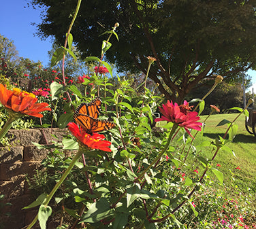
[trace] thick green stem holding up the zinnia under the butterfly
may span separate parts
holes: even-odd
[[[61,186],[61,184],[65,181],[65,179],[67,178],[67,175],[69,175],[71,169],[73,169],[74,165],[76,164],[76,161],[78,160],[78,158],[80,158],[80,156],[82,155],[82,150],[78,150],[78,153],[76,154],[76,156],[74,156],[74,158],[71,160],[67,170],[65,171],[65,173],[63,173],[61,179],[58,181],[58,183],[54,186],[54,188],[52,189],[52,191],[50,192],[50,194],[48,194],[46,200],[44,200],[43,205],[47,206],[48,203],[50,202],[50,200],[52,199],[52,196],[54,195],[54,193],[58,190],[59,186]],[[37,222],[38,219],[38,214],[35,216],[35,218],[33,219],[33,222],[31,222],[31,224],[29,224],[29,226],[27,227],[27,229],[32,228],[32,226]]]

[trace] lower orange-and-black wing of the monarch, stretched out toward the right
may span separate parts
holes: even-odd
[[[89,133],[90,135],[92,133],[97,133],[103,130],[109,130],[116,126],[114,122],[109,122],[107,120],[97,120],[91,116],[83,114],[75,114],[74,120],[86,131],[86,133]]]

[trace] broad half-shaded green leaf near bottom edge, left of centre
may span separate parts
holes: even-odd
[[[106,198],[100,198],[97,202],[94,202],[89,210],[82,217],[82,222],[96,223],[107,216],[113,215],[113,211],[110,208],[110,204]]]

